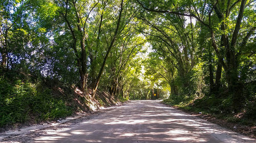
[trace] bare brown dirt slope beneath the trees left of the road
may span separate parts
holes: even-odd
[[[23,123],[12,123],[5,125],[0,128],[0,133],[8,130],[20,131],[21,128],[28,128],[35,125],[55,125],[55,123],[60,123],[66,118],[73,119],[74,117],[80,117],[83,115],[88,115],[105,107],[119,104],[120,101],[111,96],[108,92],[97,92],[96,98],[91,98],[92,91],[88,89],[87,93],[82,92],[75,86],[60,83],[59,81],[44,81],[41,83],[42,89],[50,89],[51,96],[54,99],[61,100],[65,102],[65,105],[70,108],[71,115],[69,117],[58,117],[55,119],[40,119],[37,113],[28,113],[27,121]],[[73,118],[72,118],[73,117]]]

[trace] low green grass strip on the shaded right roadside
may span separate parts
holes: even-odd
[[[244,106],[240,111],[234,112],[227,99],[217,99],[214,97],[203,97],[201,99],[183,100],[179,102],[173,99],[164,99],[163,103],[174,106],[177,109],[188,111],[202,116],[211,116],[229,123],[245,126],[256,126],[255,110],[251,111],[251,106]]]

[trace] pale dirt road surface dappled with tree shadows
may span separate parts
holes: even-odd
[[[157,101],[131,101],[34,142],[237,142],[214,126]]]

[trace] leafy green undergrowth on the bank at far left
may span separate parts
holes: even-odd
[[[0,127],[25,123],[29,120],[40,122],[67,117],[73,109],[66,106],[65,98],[52,95],[52,90],[40,88],[40,83],[0,78]]]

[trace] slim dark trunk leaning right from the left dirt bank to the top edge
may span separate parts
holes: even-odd
[[[103,73],[103,69],[105,67],[105,64],[106,64],[106,59],[108,59],[109,53],[110,53],[110,51],[111,51],[111,49],[113,47],[113,44],[114,44],[114,42],[116,40],[116,37],[117,37],[117,34],[118,34],[118,30],[119,30],[119,26],[120,26],[120,21],[121,21],[121,17],[122,17],[122,11],[123,11],[123,0],[121,1],[120,12],[119,12],[119,17],[118,17],[118,21],[117,21],[117,26],[116,26],[116,31],[115,31],[114,37],[113,37],[113,39],[112,39],[112,41],[110,43],[108,51],[106,51],[105,58],[103,60],[103,63],[101,65],[101,68],[100,68],[100,71],[99,71],[99,74],[98,74],[97,79],[96,79],[96,83],[94,85],[93,95],[92,95],[93,99],[95,98],[95,94],[96,94],[96,91],[98,89],[99,81],[100,81],[101,75]]]

